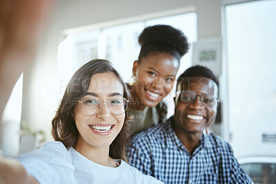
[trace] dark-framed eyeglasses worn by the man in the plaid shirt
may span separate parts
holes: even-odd
[[[180,94],[180,100],[183,103],[193,103],[195,99],[197,99],[197,96],[199,96],[201,103],[203,103],[206,106],[214,106],[217,102],[219,102],[219,99],[217,99],[212,94],[196,94],[192,91],[179,91],[176,92],[176,94]]]

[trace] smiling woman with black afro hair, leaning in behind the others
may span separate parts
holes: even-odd
[[[141,50],[133,63],[134,81],[128,84],[132,135],[166,120],[168,108],[163,99],[172,90],[181,57],[188,52],[186,36],[170,25],[149,26],[138,41]]]

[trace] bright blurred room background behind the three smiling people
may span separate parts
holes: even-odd
[[[57,1],[41,32],[36,61],[21,75],[6,105],[0,133],[3,156],[52,141],[51,120],[70,77],[81,65],[108,59],[128,82],[141,31],[148,25],[168,24],[181,29],[190,43],[177,76],[199,63],[219,77],[221,105],[211,131],[230,143],[238,159],[254,156],[262,158],[257,163],[272,163],[275,10],[276,1],[271,0]],[[166,98],[168,116],[174,113],[174,90]],[[275,164],[270,168],[276,175]]]

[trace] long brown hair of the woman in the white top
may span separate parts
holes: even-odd
[[[52,119],[53,138],[55,141],[61,141],[67,148],[74,147],[79,136],[79,131],[72,116],[74,106],[88,92],[92,76],[103,72],[115,74],[124,87],[124,97],[128,100],[130,99],[126,84],[110,61],[93,59],[79,68],[70,79],[55,118]],[[126,112],[126,114],[128,113]],[[121,131],[110,145],[109,155],[113,159],[126,161],[125,146],[128,141],[128,120],[130,120],[130,117],[126,116]]]

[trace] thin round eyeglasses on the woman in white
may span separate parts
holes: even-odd
[[[87,97],[79,101],[79,103],[81,103],[81,111],[87,116],[97,114],[97,112],[101,110],[102,106],[102,102],[93,97]],[[108,108],[112,114],[120,115],[126,112],[126,109],[128,108],[128,100],[123,97],[116,97],[107,101],[106,105],[108,105]]]

